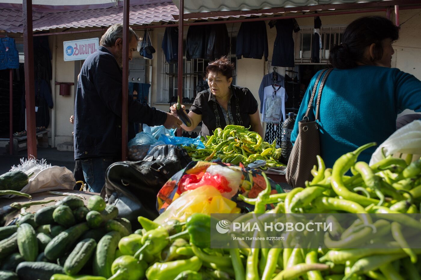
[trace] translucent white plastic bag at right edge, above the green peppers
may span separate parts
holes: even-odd
[[[413,121],[390,135],[373,153],[370,159],[370,165],[383,159],[381,154],[382,148],[385,156],[393,155],[394,157],[399,157],[402,153],[402,158],[405,158],[407,154],[414,155],[412,158],[413,161],[420,158],[421,120]]]

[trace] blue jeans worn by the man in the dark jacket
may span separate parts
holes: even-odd
[[[83,177],[85,177],[89,191],[101,193],[105,184],[105,172],[115,160],[110,157],[98,157],[81,159],[80,162],[82,163]]]

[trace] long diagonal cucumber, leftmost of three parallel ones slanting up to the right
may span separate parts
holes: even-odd
[[[44,253],[47,259],[51,261],[56,260],[59,256],[69,251],[76,240],[88,229],[89,227],[86,223],[81,223],[60,232],[45,247]]]

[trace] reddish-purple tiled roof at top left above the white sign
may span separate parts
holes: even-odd
[[[152,22],[176,21],[173,14],[179,9],[172,2],[134,5],[130,7],[130,25],[150,24]],[[102,27],[123,22],[121,7],[100,8],[61,13],[32,12],[33,30],[42,31],[56,28]],[[0,9],[0,30],[23,32],[21,10]]]

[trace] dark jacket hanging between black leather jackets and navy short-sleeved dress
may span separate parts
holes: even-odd
[[[237,59],[256,58],[267,61],[268,46],[266,24],[264,21],[243,22],[237,34],[237,46],[235,55]]]

